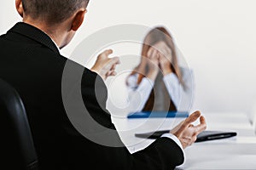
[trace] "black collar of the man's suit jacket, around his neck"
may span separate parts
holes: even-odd
[[[18,22],[9,31],[21,34],[25,37],[29,37],[36,42],[44,44],[44,46],[50,48],[55,53],[60,54],[58,47],[55,45],[55,42],[53,42],[52,39],[46,33],[44,33],[44,31],[41,31],[34,26],[28,25],[24,22]]]

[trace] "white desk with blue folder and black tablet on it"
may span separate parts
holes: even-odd
[[[185,162],[177,169],[256,169],[256,137],[253,126],[243,113],[204,113],[207,130],[236,131],[230,139],[195,143],[186,148]],[[131,153],[142,150],[153,139],[139,139],[134,133],[171,129],[183,118],[113,118],[121,139]],[[195,122],[196,124],[197,122]]]

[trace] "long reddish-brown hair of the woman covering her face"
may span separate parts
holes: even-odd
[[[141,62],[131,72],[131,75],[134,75],[137,73],[138,74],[137,84],[142,82],[143,77],[145,77],[145,75],[148,72],[147,62],[143,62],[143,61],[145,61],[145,59],[143,59],[143,57],[147,58],[148,49],[151,48],[152,46],[154,46],[154,44],[157,42],[166,42],[166,45],[169,48],[171,48],[172,61],[170,62],[170,67],[171,67],[173,73],[176,74],[179,82],[184,86],[182,74],[181,74],[181,71],[177,64],[177,53],[176,53],[175,44],[173,42],[173,38],[172,38],[171,34],[166,30],[166,28],[162,27],[162,26],[155,27],[154,29],[149,31],[148,34],[146,35],[146,37],[144,38],[143,49],[142,49],[142,54],[141,54],[141,56],[142,56]]]

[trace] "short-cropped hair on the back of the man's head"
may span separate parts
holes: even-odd
[[[89,0],[22,0],[25,14],[43,19],[49,24],[67,20],[79,8],[86,8]]]

